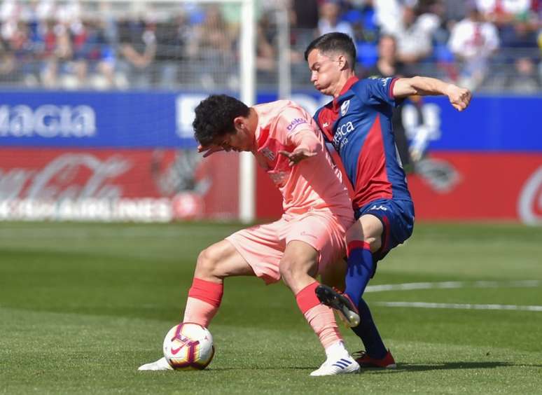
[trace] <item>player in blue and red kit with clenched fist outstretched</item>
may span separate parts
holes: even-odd
[[[412,235],[414,205],[396,149],[391,115],[410,95],[446,95],[463,111],[471,92],[436,78],[356,77],[356,48],[347,34],[328,33],[305,51],[311,82],[333,100],[314,114],[324,136],[340,155],[354,189],[356,223],[347,233],[345,292],[320,285],[321,303],[337,310],[361,338],[361,367],[395,368],[384,346],[363,291],[375,275],[377,262]]]

